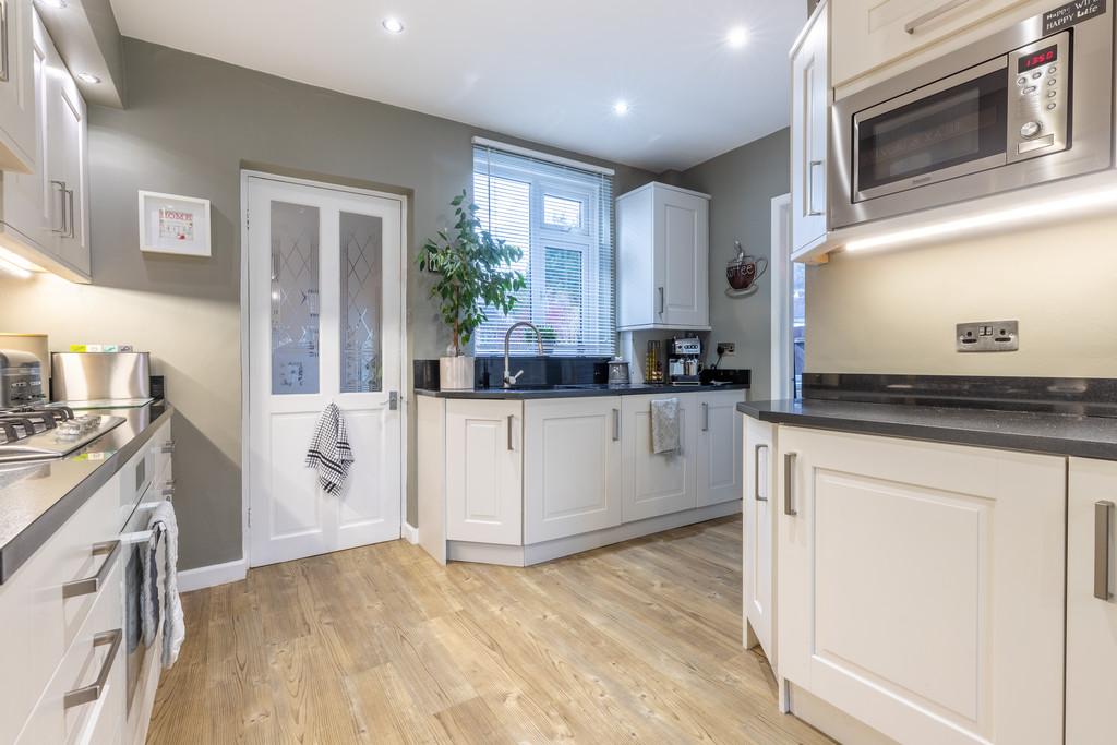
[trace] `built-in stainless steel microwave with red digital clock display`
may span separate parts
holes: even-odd
[[[1114,165],[1114,12],[1052,7],[834,102],[830,228]]]

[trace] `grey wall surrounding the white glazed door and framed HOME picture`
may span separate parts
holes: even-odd
[[[517,141],[134,39],[125,40],[124,58],[128,108],[89,109],[94,286],[2,280],[0,328],[48,333],[54,348],[132,341],[153,353],[180,409],[176,506],[181,565],[191,569],[241,554],[241,164],[408,193],[413,256],[448,222],[449,200],[470,184],[470,137]],[[617,169],[617,193],[652,179],[605,165]],[[210,199],[212,258],[141,255],[139,189]],[[424,281],[410,273],[409,357],[438,356],[448,342]],[[414,507],[412,494],[412,520]]]

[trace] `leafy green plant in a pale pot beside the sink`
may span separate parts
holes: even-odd
[[[486,308],[507,314],[527,281],[512,268],[524,251],[481,230],[477,206],[466,204],[465,191],[450,206],[454,228],[439,230],[437,238],[428,240],[418,264],[438,275],[430,296],[438,298],[439,314],[452,340],[447,356],[439,360],[440,386],[459,391],[474,388],[474,359],[466,354],[466,346],[477,327],[488,321]]]

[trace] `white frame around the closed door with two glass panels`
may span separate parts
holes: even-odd
[[[245,570],[251,566],[248,526],[249,485],[251,478],[250,426],[251,397],[248,394],[251,375],[251,343],[249,337],[249,303],[248,303],[248,180],[261,179],[286,184],[313,187],[361,197],[388,199],[400,204],[400,531],[408,524],[408,420],[410,418],[411,397],[408,394],[411,380],[408,365],[408,198],[371,189],[345,187],[324,181],[297,179],[278,175],[265,171],[240,171],[240,551]]]

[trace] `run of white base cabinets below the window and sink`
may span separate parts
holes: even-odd
[[[651,452],[678,398],[682,448]],[[527,565],[739,510],[743,391],[419,397],[420,541],[436,558]]]

